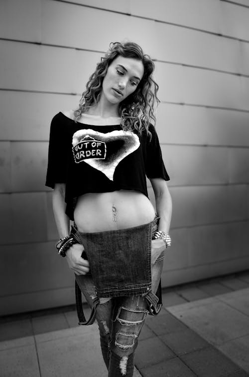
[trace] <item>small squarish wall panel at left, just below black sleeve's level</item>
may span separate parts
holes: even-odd
[[[47,170],[48,142],[11,143],[12,191],[43,191]]]

